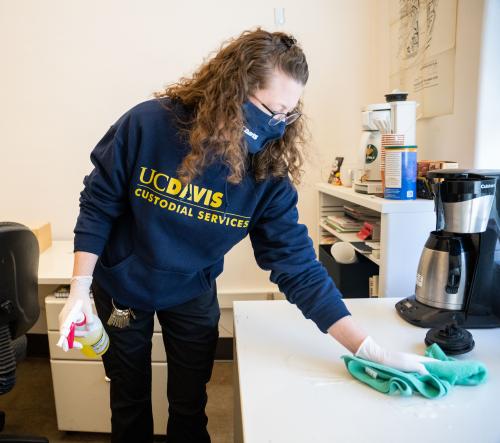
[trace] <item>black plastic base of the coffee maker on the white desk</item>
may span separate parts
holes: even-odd
[[[412,325],[421,328],[442,328],[456,321],[458,326],[468,329],[500,328],[500,318],[494,315],[467,315],[464,311],[450,311],[424,305],[415,296],[396,303],[397,313]]]

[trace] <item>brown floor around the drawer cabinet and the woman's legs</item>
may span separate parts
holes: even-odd
[[[43,435],[50,443],[109,442],[108,434],[61,432],[57,429],[48,358],[23,360],[18,364],[16,375],[14,389],[0,397],[0,410],[6,413],[5,433]],[[208,428],[213,443],[233,441],[232,378],[232,362],[215,363],[208,386],[207,406]]]

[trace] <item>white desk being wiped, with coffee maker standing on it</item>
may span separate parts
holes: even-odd
[[[394,350],[423,353],[425,329],[400,319],[396,299],[350,299],[357,322]],[[500,442],[500,329],[472,330],[489,380],[448,396],[390,397],[356,381],[330,336],[285,301],[236,302],[235,442]]]

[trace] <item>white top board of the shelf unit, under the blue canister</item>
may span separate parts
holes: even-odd
[[[389,200],[375,195],[360,194],[353,188],[334,186],[329,183],[316,183],[316,188],[328,195],[355,203],[381,213],[393,212],[434,212],[434,201],[417,198],[416,200]]]

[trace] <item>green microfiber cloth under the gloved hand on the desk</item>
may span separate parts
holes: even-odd
[[[438,360],[424,362],[429,371],[426,375],[402,372],[352,355],[342,358],[354,378],[389,395],[410,396],[416,392],[426,398],[440,398],[453,385],[474,386],[486,380],[488,372],[482,363],[448,357],[435,343],[426,349],[425,355]]]

